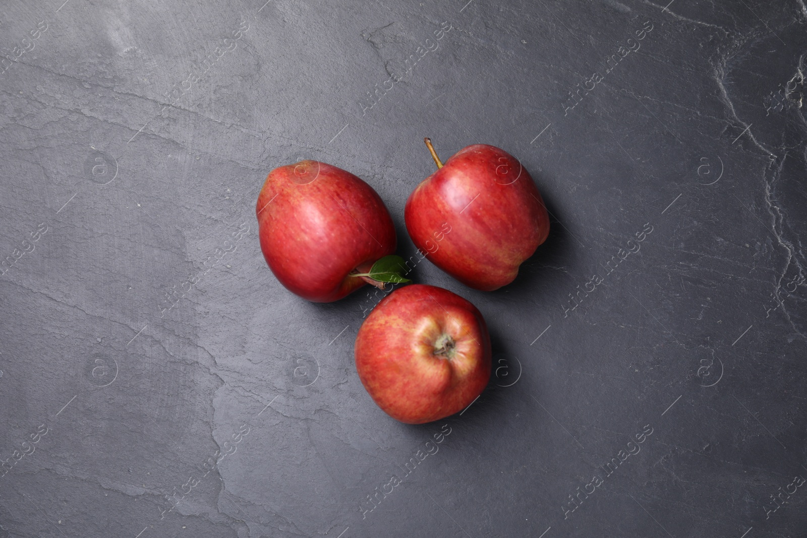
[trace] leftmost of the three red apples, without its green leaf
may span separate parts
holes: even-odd
[[[378,194],[352,173],[317,161],[281,166],[255,206],[261,250],[286,289],[314,302],[345,297],[354,276],[395,252],[395,227]]]

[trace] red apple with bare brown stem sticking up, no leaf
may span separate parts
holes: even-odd
[[[425,140],[437,172],[409,195],[403,214],[409,236],[466,286],[492,291],[509,284],[550,232],[533,178],[516,157],[487,144],[462,148],[443,165]],[[444,223],[451,232],[436,244]]]

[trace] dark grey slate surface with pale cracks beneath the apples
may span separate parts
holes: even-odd
[[[807,536],[805,3],[466,1],[3,2],[0,536]],[[424,136],[553,228],[493,293],[416,267],[495,375],[413,427],[254,203],[327,161],[409,256]]]

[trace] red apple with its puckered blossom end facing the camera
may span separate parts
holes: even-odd
[[[414,284],[378,302],[356,337],[356,370],[378,407],[410,424],[462,411],[491,377],[491,339],[474,305]]]

